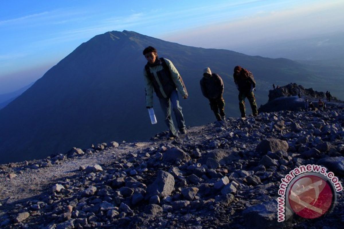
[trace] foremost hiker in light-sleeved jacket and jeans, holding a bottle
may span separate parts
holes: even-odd
[[[153,90],[157,94],[161,109],[165,115],[165,123],[169,127],[169,139],[178,137],[171,117],[173,109],[177,125],[181,134],[186,133],[182,107],[179,105],[178,92],[183,99],[187,99],[187,91],[178,70],[173,63],[165,58],[158,58],[157,49],[148,46],[143,50],[147,60],[144,66],[144,80],[146,81],[146,108],[153,107]]]

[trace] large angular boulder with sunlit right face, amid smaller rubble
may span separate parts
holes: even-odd
[[[171,195],[174,190],[174,177],[165,171],[158,172],[157,179],[147,188],[147,195],[145,199],[149,199],[154,195],[159,197],[166,197]]]

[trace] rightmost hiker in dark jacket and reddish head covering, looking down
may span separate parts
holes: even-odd
[[[240,66],[234,68],[233,78],[235,85],[239,91],[239,109],[241,117],[246,117],[245,113],[245,99],[247,98],[250,102],[252,114],[258,115],[256,98],[253,91],[256,88],[256,81],[250,71],[247,71]]]

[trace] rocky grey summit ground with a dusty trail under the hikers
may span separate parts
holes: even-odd
[[[343,137],[344,111],[333,106],[0,165],[0,227],[342,228],[343,191],[318,219],[277,222],[276,199],[301,165],[323,165],[343,184]]]

